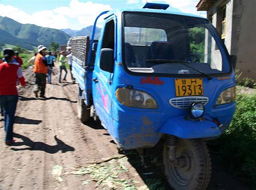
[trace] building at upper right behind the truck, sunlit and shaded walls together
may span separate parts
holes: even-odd
[[[221,10],[226,4],[225,46],[237,56],[242,78],[256,80],[256,0],[218,0],[207,11],[212,25],[221,33]],[[215,46],[212,43],[212,49]],[[214,52],[213,52],[214,56]]]

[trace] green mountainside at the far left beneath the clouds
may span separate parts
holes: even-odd
[[[38,45],[49,46],[51,41],[60,45],[67,44],[70,38],[65,32],[44,28],[34,24],[21,24],[8,17],[0,17],[0,46],[4,44],[20,45],[33,50]]]

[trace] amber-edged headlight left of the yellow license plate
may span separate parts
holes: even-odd
[[[146,92],[119,88],[116,89],[117,100],[128,107],[146,108],[146,109],[157,109],[158,105],[154,98]]]

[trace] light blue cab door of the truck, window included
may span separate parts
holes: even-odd
[[[99,116],[100,121],[102,122],[103,127],[106,129],[112,126],[112,86],[111,79],[113,73],[104,71],[100,69],[100,52],[103,48],[109,48],[115,51],[115,31],[116,31],[116,19],[114,16],[108,18],[105,21],[105,26],[103,28],[101,37],[99,39],[98,48],[96,52],[95,66],[93,70],[93,104],[96,109],[96,113]],[[116,56],[115,58],[116,59]],[[114,60],[115,62],[116,60]]]

